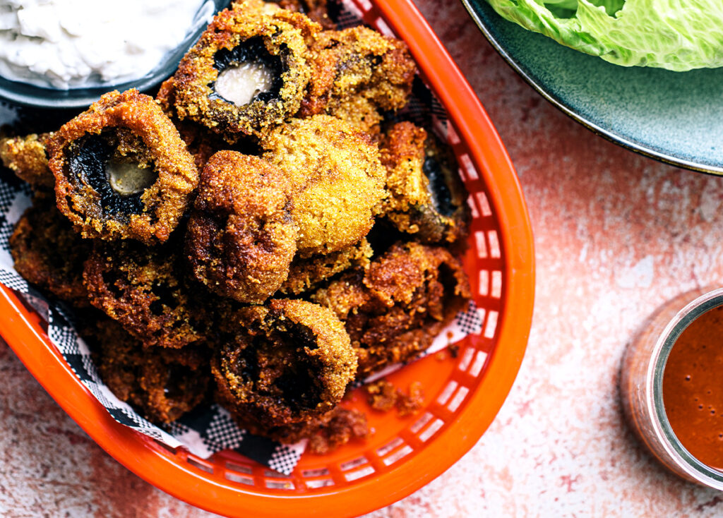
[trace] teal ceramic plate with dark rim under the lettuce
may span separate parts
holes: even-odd
[[[462,0],[502,57],[547,100],[617,144],[683,168],[723,175],[723,69],[626,68]]]

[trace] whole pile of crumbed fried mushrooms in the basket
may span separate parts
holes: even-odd
[[[215,400],[325,452],[367,433],[350,384],[466,308],[469,214],[448,147],[398,120],[405,44],[303,5],[232,4],[155,98],[109,92],[0,157],[34,193],[17,272],[77,311],[121,400],[155,423]]]

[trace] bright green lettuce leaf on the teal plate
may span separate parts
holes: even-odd
[[[723,66],[723,0],[487,0],[507,20],[605,61]]]

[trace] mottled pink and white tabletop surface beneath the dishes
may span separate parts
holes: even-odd
[[[458,0],[416,0],[518,170],[536,247],[520,374],[479,443],[369,517],[723,514],[723,495],[664,472],[620,413],[625,344],[656,306],[723,280],[723,178],[596,137],[520,79]],[[108,457],[0,342],[0,516],[210,517]]]

